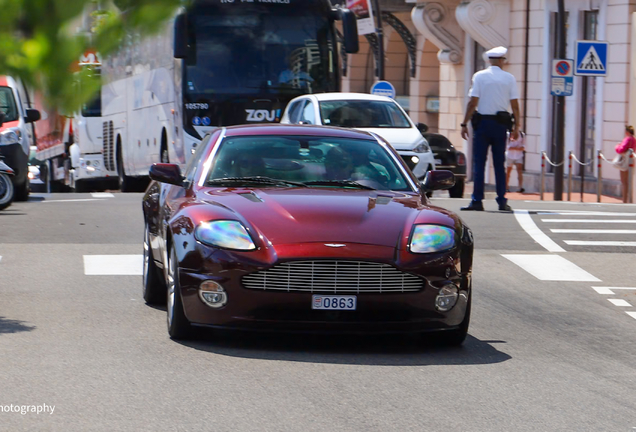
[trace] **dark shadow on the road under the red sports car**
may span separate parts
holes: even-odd
[[[461,347],[440,347],[416,336],[323,336],[202,331],[181,342],[209,353],[261,360],[375,366],[493,364],[511,357],[491,343],[468,336]]]

